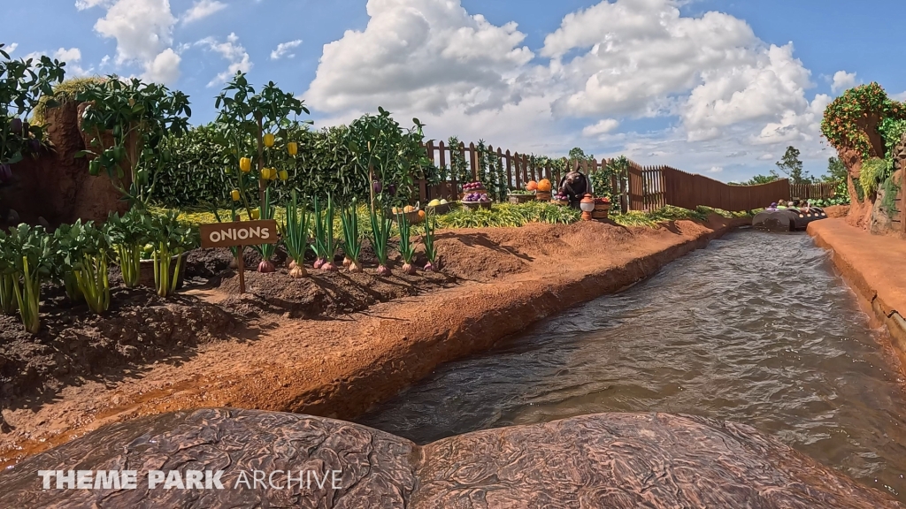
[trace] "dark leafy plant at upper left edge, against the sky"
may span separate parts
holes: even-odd
[[[53,95],[53,84],[63,82],[65,62],[42,56],[13,60],[0,43],[0,183],[12,177],[10,165],[41,147],[44,131],[24,119],[42,95]],[[53,101],[48,101],[53,106]]]

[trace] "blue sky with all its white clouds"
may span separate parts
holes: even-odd
[[[16,22],[0,42],[15,57],[166,82],[190,95],[196,123],[242,69],[303,96],[320,126],[382,105],[432,138],[548,155],[581,146],[722,180],[766,173],[790,144],[820,175],[834,155],[817,130],[828,101],[861,82],[906,92],[897,30],[878,25],[906,19],[906,2],[6,4]]]

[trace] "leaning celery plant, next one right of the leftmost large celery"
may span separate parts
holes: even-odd
[[[92,312],[101,314],[111,305],[111,285],[107,273],[110,239],[91,221],[74,232],[80,256],[72,265],[79,291]]]

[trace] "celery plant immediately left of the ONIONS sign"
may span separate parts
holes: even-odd
[[[185,257],[183,254],[198,246],[198,232],[181,224],[179,214],[175,211],[149,216],[145,221],[150,244],[153,245],[151,259],[154,261],[154,285],[159,296],[167,297],[176,292],[178,275]]]

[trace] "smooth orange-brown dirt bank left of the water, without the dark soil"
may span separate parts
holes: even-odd
[[[443,232],[460,280],[337,320],[268,318],[254,339],[202,346],[135,378],[89,381],[51,403],[5,411],[0,462],[143,415],[236,407],[354,418],[440,363],[486,350],[556,312],[613,293],[745,220],[712,217],[658,229],[600,223]],[[210,299],[216,301],[217,295]]]

